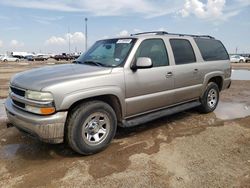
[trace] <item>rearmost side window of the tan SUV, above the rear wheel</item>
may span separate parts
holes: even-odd
[[[219,40],[195,38],[194,39],[205,61],[228,60],[228,53]]]

